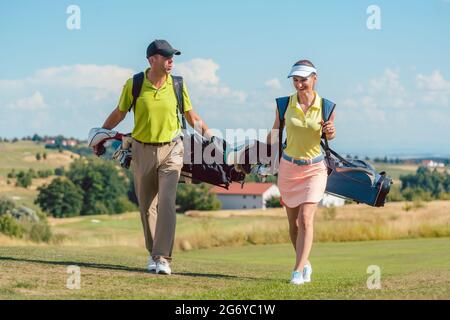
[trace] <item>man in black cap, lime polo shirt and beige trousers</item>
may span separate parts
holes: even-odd
[[[145,71],[139,98],[134,106],[132,159],[134,186],[139,202],[145,245],[150,253],[147,269],[171,274],[170,262],[175,238],[175,200],[183,167],[184,147],[178,118],[177,99],[170,72],[173,56],[180,51],[165,40],[155,40],[147,48],[150,68]],[[122,91],[119,106],[103,124],[113,129],[126,116],[133,102],[133,78]],[[211,138],[208,126],[192,109],[183,86],[184,116],[205,138]],[[94,148],[97,152],[97,148]]]

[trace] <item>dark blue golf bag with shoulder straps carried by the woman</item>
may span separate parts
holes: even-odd
[[[288,105],[289,97],[277,99],[277,108],[280,115],[280,157],[283,146],[286,145],[282,143],[282,132],[284,115]],[[323,121],[326,122],[330,119],[335,106],[333,102],[322,99]],[[373,207],[384,206],[392,179],[385,172],[378,173],[372,165],[365,161],[341,157],[329,147],[325,134],[322,134],[322,140],[321,146],[325,152],[325,162],[328,167],[328,180],[325,192]]]

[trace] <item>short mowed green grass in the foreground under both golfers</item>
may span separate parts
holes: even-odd
[[[174,274],[145,272],[138,247],[0,247],[0,299],[449,299],[450,239],[317,243],[313,282],[288,283],[289,244],[178,252]],[[67,266],[81,289],[66,288]],[[381,269],[380,290],[367,268]]]

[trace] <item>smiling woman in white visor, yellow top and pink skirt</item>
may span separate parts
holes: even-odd
[[[296,251],[291,283],[311,281],[309,262],[313,242],[313,221],[327,184],[327,168],[320,149],[322,132],[334,139],[334,111],[330,120],[322,120],[322,99],[314,90],[317,70],[309,60],[300,60],[289,73],[296,93],[289,97],[285,113],[287,145],[278,171],[278,187],[289,220],[289,235]],[[277,110],[267,143],[278,139],[280,116]],[[277,140],[275,140],[277,141]]]

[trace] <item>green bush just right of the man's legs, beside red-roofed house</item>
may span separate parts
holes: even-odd
[[[180,184],[177,189],[176,203],[179,211],[219,210],[221,203],[206,184]]]

